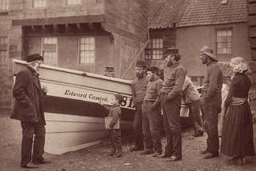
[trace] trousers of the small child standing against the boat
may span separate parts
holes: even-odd
[[[114,151],[122,151],[122,142],[121,142],[121,129],[110,129],[110,141]]]

